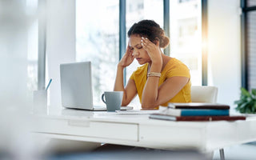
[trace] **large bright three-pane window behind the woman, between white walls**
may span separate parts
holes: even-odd
[[[76,60],[92,62],[96,104],[102,103],[102,92],[114,86],[119,61],[119,5],[119,0],[76,1]],[[202,85],[201,1],[171,0],[169,7],[170,56],[190,68],[193,85]],[[163,28],[163,0],[126,0],[126,35],[130,26],[142,19],[152,19]],[[138,66],[134,60],[126,68],[126,82]],[[131,105],[140,107],[138,97]]]

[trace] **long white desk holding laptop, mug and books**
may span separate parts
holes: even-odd
[[[38,122],[33,131],[50,138],[200,152],[256,140],[256,117],[235,122],[170,122],[148,116],[63,109],[34,115]]]

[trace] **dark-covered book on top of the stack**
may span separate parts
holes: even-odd
[[[168,103],[170,108],[178,109],[214,109],[214,110],[228,110],[230,106],[220,103],[206,103],[206,102],[187,102],[187,103]]]

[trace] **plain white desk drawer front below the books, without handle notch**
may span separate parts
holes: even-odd
[[[205,141],[202,128],[190,126],[149,126],[142,125],[139,130],[139,141],[162,149],[198,149]]]

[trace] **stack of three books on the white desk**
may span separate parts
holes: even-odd
[[[150,118],[170,121],[235,121],[246,117],[230,115],[230,106],[219,103],[169,103]]]

